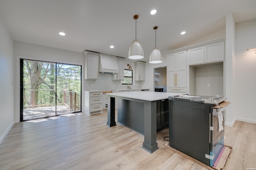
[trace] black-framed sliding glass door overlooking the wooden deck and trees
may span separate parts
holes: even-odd
[[[82,66],[20,59],[20,121],[81,111]]]

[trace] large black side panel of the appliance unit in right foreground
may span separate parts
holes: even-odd
[[[175,98],[169,108],[169,145],[208,165],[212,106]]]

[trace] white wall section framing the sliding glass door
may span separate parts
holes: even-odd
[[[32,45],[28,43],[14,42],[14,56],[15,56],[15,122],[20,121],[20,58],[32,59],[39,61],[51,61],[67,64],[82,65],[82,72],[84,69],[84,55],[82,53],[76,53],[72,51],[66,51],[61,49],[55,49],[50,47],[44,47],[40,45]],[[83,74],[82,74],[83,80]],[[84,81],[82,81],[83,87]],[[83,95],[83,94],[82,94]],[[13,107],[13,106],[12,106]]]

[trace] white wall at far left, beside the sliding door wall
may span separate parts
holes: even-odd
[[[14,41],[0,14],[0,144],[14,125]]]

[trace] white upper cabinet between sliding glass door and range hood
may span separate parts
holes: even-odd
[[[90,54],[84,52],[84,79],[99,78],[99,54]]]

